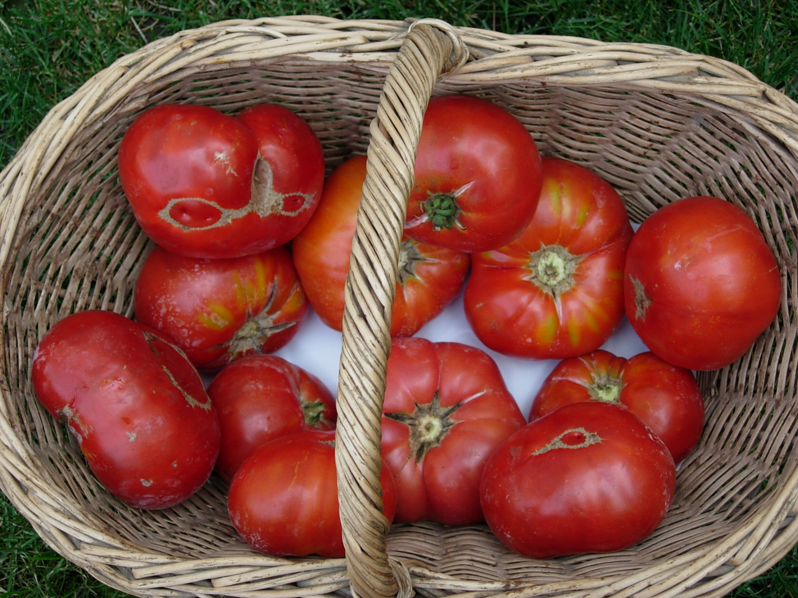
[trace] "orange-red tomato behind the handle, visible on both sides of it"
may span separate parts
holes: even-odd
[[[327,179],[318,210],[291,243],[294,266],[318,317],[340,331],[344,285],[361,189],[365,156],[342,163]],[[468,254],[405,238],[399,257],[392,336],[412,336],[443,311],[462,289]]]

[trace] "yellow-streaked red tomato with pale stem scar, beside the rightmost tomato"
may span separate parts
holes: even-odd
[[[464,309],[504,355],[565,359],[599,348],[623,318],[623,264],[633,230],[622,199],[579,164],[543,158],[529,226],[500,249],[472,255]]]

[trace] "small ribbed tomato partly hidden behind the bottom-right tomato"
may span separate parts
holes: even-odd
[[[621,404],[637,415],[681,462],[704,429],[704,398],[693,372],[652,352],[629,359],[597,349],[562,360],[543,380],[530,421],[579,401]]]

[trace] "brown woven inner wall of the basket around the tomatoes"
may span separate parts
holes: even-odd
[[[41,475],[41,487],[31,494],[47,497],[42,500],[53,521],[73,520],[76,545],[135,548],[186,560],[255,554],[235,533],[226,486],[215,475],[172,509],[140,511],[112,498],[85,466],[77,443],[38,404],[30,384],[34,348],[55,321],[89,308],[132,313],[133,283],[150,242],[117,179],[124,130],[141,110],[164,102],[208,104],[225,112],[275,102],[313,126],[329,171],[346,157],[365,153],[384,77],[384,66],[356,61],[187,66],[143,83],[108,112],[87,118],[28,197],[14,237],[16,257],[4,272],[9,344],[3,367],[13,389],[13,403],[5,408],[20,458]],[[508,108],[543,155],[574,160],[613,184],[634,222],[689,195],[718,195],[740,204],[776,254],[788,289],[784,296],[794,295],[796,233],[788,218],[794,217],[789,206],[798,192],[798,163],[740,112],[622,82],[544,86],[523,79],[452,79],[438,86],[437,93],[444,92],[478,94]],[[698,376],[707,406],[705,433],[681,466],[674,506],[645,541],[610,555],[533,561],[505,549],[485,525],[446,528],[424,522],[394,526],[389,553],[464,580],[561,580],[634,572],[745,528],[796,472],[793,308],[794,303],[783,306],[736,364]]]

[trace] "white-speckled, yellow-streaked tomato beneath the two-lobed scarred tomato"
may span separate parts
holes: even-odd
[[[156,246],[136,278],[133,304],[137,321],[164,332],[203,370],[277,351],[310,309],[286,246],[217,259]]]

